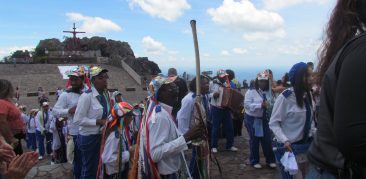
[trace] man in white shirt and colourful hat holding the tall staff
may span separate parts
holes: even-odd
[[[153,89],[152,101],[148,107],[147,118],[142,125],[140,142],[140,163],[150,166],[151,172],[140,169],[147,178],[171,178],[183,166],[183,151],[187,150],[187,142],[203,134],[202,125],[189,129],[182,135],[172,117],[173,105],[178,100],[178,89],[173,83],[175,79],[156,77],[149,89]],[[155,100],[156,99],[156,100]],[[145,152],[145,153],[144,153]],[[144,158],[146,157],[147,158]],[[152,174],[152,176],[148,175]]]

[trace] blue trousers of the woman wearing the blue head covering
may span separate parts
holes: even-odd
[[[278,143],[278,142],[274,142],[274,146],[276,148],[275,156],[276,156],[278,166],[281,170],[282,178],[283,179],[293,179],[292,175],[290,175],[288,172],[285,172],[285,170],[284,170],[285,168],[282,166],[281,161],[280,161],[283,154],[285,154],[286,149],[283,147],[283,144]],[[310,143],[308,143],[308,144],[291,144],[291,148],[292,148],[292,151],[295,154],[295,156],[297,154],[306,153],[309,149],[309,146],[310,146]]]

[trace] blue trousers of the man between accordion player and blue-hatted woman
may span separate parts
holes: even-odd
[[[267,121],[263,121],[263,137],[256,137],[254,135],[254,117],[245,113],[244,124],[249,134],[249,147],[250,147],[250,164],[255,165],[259,163],[259,143],[262,146],[264,157],[266,157],[266,163],[275,163],[276,159],[272,150],[271,132]]]

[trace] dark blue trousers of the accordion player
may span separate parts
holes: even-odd
[[[226,135],[226,149],[234,145],[234,126],[233,119],[229,109],[220,109],[211,106],[212,131],[211,131],[211,148],[217,148],[218,133],[220,125],[224,125]]]

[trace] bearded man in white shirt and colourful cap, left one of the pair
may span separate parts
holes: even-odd
[[[68,135],[71,135],[74,142],[74,161],[73,174],[75,178],[80,178],[81,173],[81,157],[80,149],[77,145],[77,136],[79,135],[79,126],[74,121],[74,114],[80,95],[84,90],[84,75],[78,68],[66,72],[69,77],[71,88],[63,92],[52,111],[56,118],[67,119]]]

